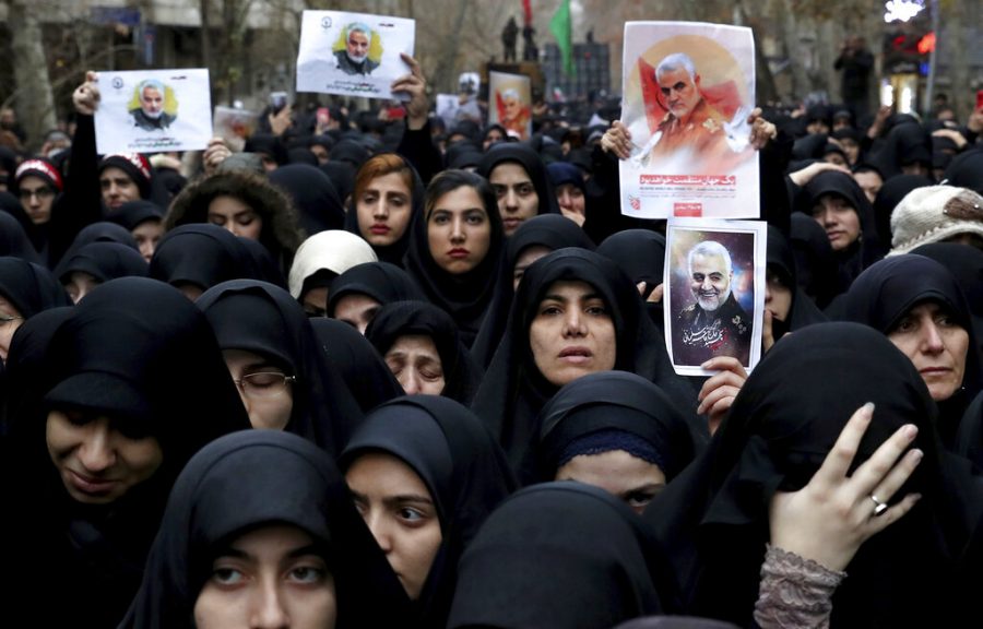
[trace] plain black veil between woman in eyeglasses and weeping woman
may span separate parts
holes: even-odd
[[[386,361],[358,330],[327,317],[315,317],[310,324],[321,349],[341,373],[363,413],[403,394]]]

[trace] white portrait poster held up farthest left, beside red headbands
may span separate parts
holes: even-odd
[[[209,71],[99,72],[96,151],[200,151],[212,138]]]

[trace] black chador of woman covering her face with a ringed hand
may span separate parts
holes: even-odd
[[[954,562],[979,521],[980,482],[939,443],[935,404],[911,361],[875,330],[821,323],[762,358],[709,449],[644,513],[672,549],[685,613],[751,624],[771,497],[805,486],[866,402],[876,406],[874,419],[850,473],[898,428],[915,424],[912,447],[924,458],[891,502],[911,491],[923,498],[846,566],[831,626],[945,625],[974,604],[949,593]]]

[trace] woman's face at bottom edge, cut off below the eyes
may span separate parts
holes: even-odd
[[[333,629],[334,578],[301,529],[268,525],[237,537],[212,562],[194,602],[198,629]]]

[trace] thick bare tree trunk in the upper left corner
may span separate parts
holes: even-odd
[[[48,60],[40,24],[32,4],[17,0],[9,4],[11,49],[17,91],[14,108],[27,132],[27,143],[36,149],[44,133],[56,127],[55,97],[48,78]]]

